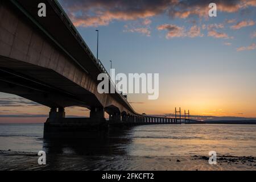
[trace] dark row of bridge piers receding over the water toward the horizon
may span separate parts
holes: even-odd
[[[109,114],[109,119],[105,119],[104,116],[104,110],[98,108],[90,110],[89,118],[69,118],[65,117],[65,109],[63,107],[57,109],[52,108],[49,112],[49,118],[44,123],[44,138],[80,138],[85,136],[101,138],[99,135],[105,135],[109,130],[122,129],[130,126],[202,123],[186,117],[177,117],[176,115],[175,118],[169,118],[115,112]]]

